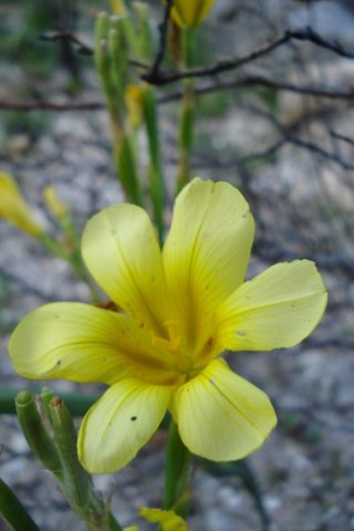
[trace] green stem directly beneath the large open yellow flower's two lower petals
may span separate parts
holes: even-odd
[[[171,420],[166,448],[164,509],[171,509],[183,498],[189,478],[190,458],[189,450],[179,437],[177,424]]]

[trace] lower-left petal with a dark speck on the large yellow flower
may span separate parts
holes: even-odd
[[[110,387],[80,427],[77,449],[83,466],[93,473],[123,468],[158,428],[170,395],[170,387],[134,378]]]

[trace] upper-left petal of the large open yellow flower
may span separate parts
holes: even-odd
[[[147,214],[134,205],[104,209],[86,225],[82,253],[110,298],[164,336],[168,310],[163,261]]]

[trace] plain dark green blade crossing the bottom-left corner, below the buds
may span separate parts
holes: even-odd
[[[10,487],[0,479],[0,514],[13,531],[40,531]]]

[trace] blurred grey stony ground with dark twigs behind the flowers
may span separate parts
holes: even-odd
[[[157,24],[163,8],[148,3]],[[43,201],[48,185],[70,207],[79,232],[93,212],[123,200],[90,55],[95,17],[108,9],[110,2],[88,0],[0,6],[0,171],[15,178],[53,238],[55,223]],[[216,0],[199,30],[195,63],[246,56],[287,30],[312,39],[289,39],[237,70],[196,81],[192,168],[202,178],[235,184],[249,200],[257,220],[249,275],[279,261],[314,260],[329,308],[315,333],[291,351],[230,356],[239,374],[271,396],[279,427],[249,459],[261,499],[244,477],[196,472],[190,519],[196,531],[254,531],[266,529],[267,520],[274,531],[354,529],[353,2]],[[179,88],[158,88],[170,181]],[[88,301],[90,290],[37,239],[1,219],[0,242],[0,385],[37,389],[38,383],[14,374],[9,334],[28,311],[49,301]],[[97,391],[64,382],[51,386]],[[140,506],[159,504],[163,442],[158,434],[122,472],[96,478],[123,524],[136,521]],[[12,416],[0,418],[0,476],[41,529],[84,529],[31,457]]]

